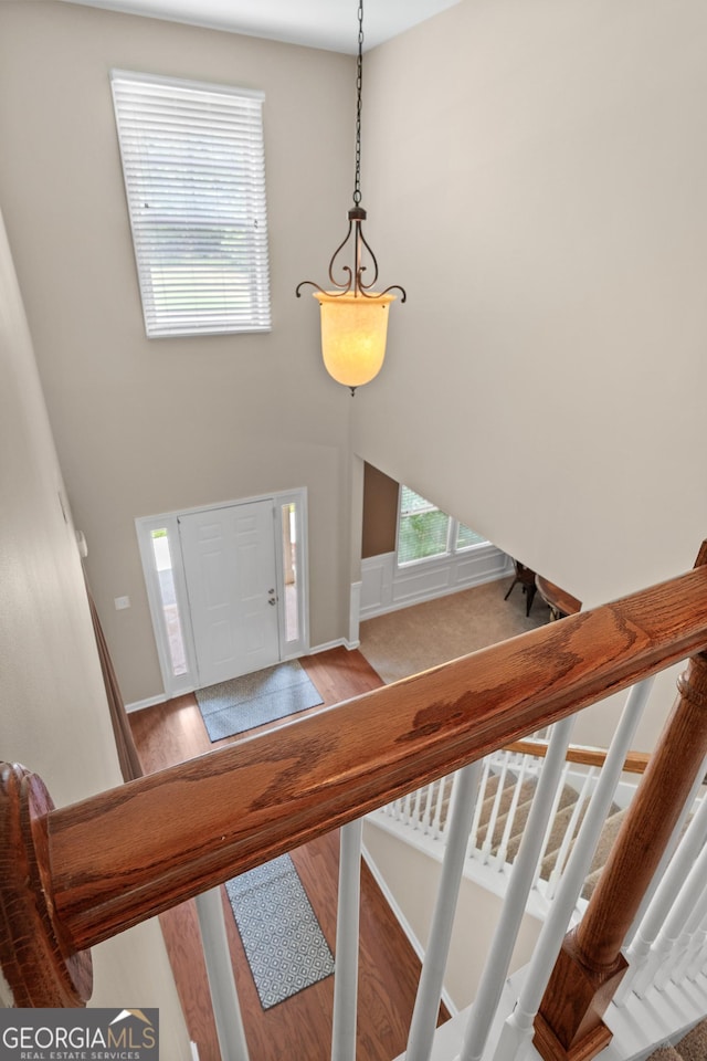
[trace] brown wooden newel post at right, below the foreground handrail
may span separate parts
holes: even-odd
[[[697,564],[706,561],[703,546]],[[621,947],[707,755],[707,652],[689,660],[677,685],[643,782],[540,1004],[534,1043],[545,1061],[589,1061],[611,1039],[602,1017],[627,968]]]

